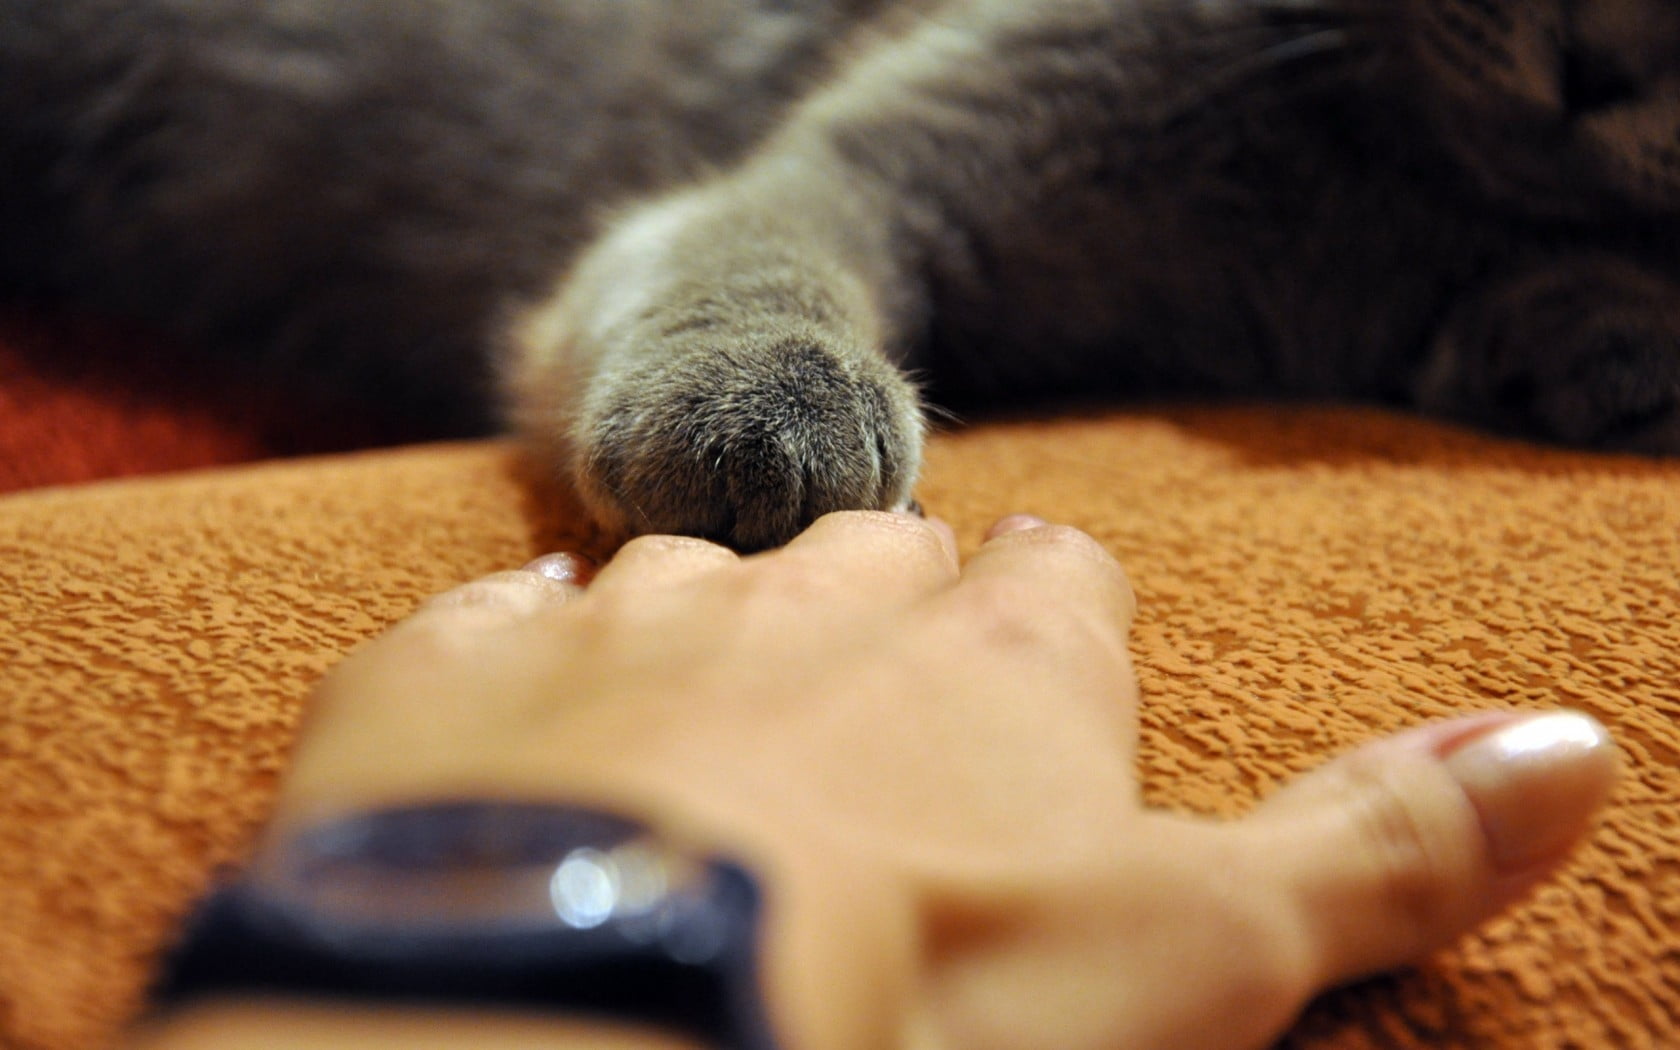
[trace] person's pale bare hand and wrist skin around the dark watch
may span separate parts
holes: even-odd
[[[1089,536],[845,512],[739,558],[632,541],[449,591],[319,687],[274,828],[452,796],[581,801],[754,865],[798,1050],[1268,1045],[1448,944],[1586,835],[1616,753],[1494,712],[1337,758],[1247,818],[1147,810],[1134,615]],[[203,1003],[136,1047],[685,1047],[588,1018]]]

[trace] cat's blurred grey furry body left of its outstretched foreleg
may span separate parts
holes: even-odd
[[[0,289],[482,430],[509,302],[738,158],[850,22],[776,7],[5,0]]]

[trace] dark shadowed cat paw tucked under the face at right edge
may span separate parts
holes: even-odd
[[[1465,311],[1420,383],[1426,408],[1586,449],[1680,454],[1677,289],[1567,269]]]

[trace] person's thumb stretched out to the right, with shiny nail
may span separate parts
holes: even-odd
[[[1616,778],[1578,712],[1500,712],[1401,732],[1302,776],[1236,825],[1304,931],[1317,986],[1460,937],[1551,874]]]

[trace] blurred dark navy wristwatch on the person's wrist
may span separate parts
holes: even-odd
[[[546,803],[438,801],[284,835],[213,890],[153,1003],[299,993],[502,1003],[774,1050],[761,890],[648,827]]]

